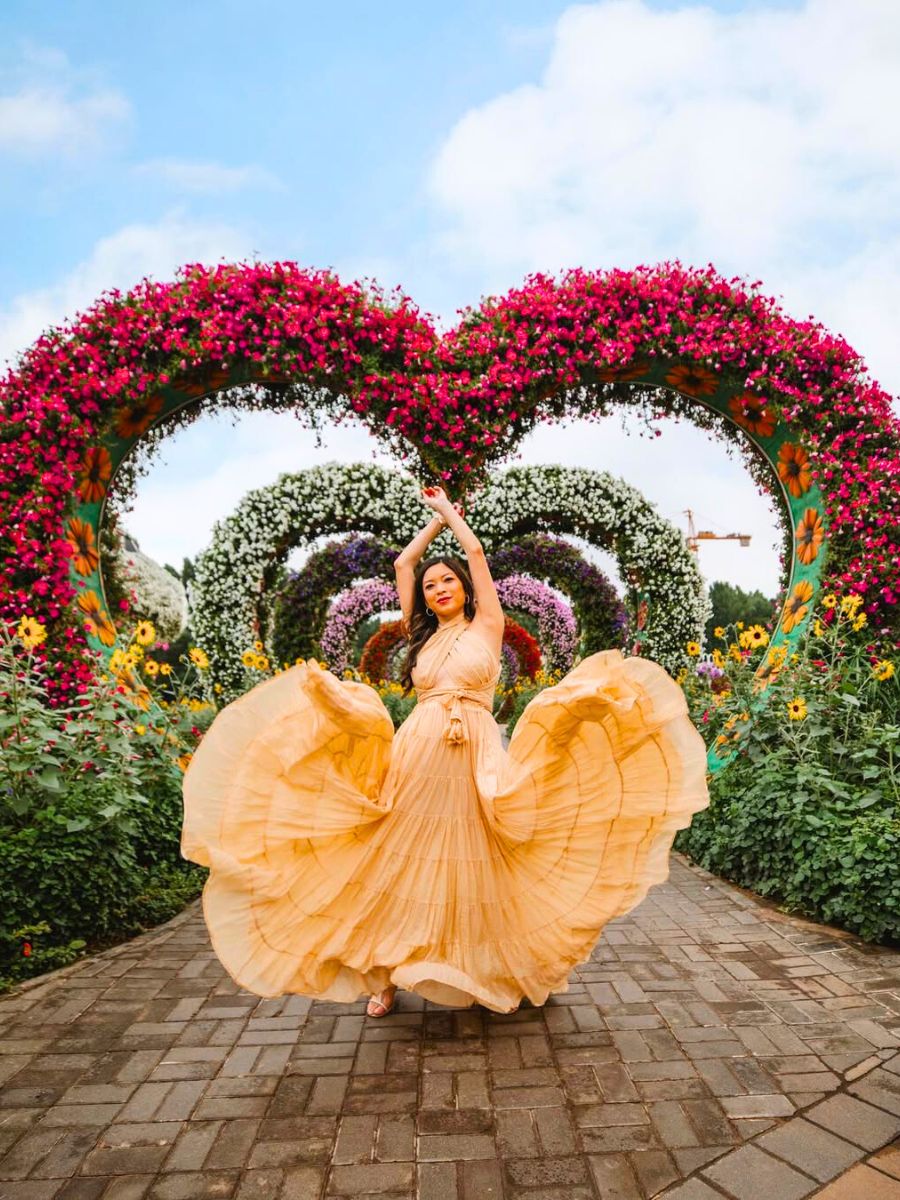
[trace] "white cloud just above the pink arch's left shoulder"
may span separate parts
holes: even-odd
[[[24,350],[44,329],[74,317],[109,288],[131,288],[144,276],[170,278],[184,263],[239,259],[251,245],[227,224],[170,212],[155,224],[131,224],[101,238],[89,257],[46,288],[16,296],[0,312],[0,361]]]

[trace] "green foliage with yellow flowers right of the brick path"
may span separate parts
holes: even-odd
[[[754,673],[767,654],[732,655],[718,695],[701,678],[685,680],[709,744],[737,757],[713,776],[709,808],[676,847],[790,912],[900,941],[893,664],[866,644],[852,605],[815,620],[787,661],[770,660],[761,689]]]

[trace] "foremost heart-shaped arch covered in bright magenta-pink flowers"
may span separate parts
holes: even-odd
[[[136,446],[212,392],[311,421],[356,418],[457,494],[541,421],[617,403],[685,414],[736,440],[782,503],[781,631],[796,636],[824,578],[860,594],[870,625],[896,636],[889,397],[841,338],[790,319],[756,286],[679,264],[532,276],[439,336],[400,293],[329,272],[191,265],[172,283],[104,295],[0,380],[0,617],[55,626],[44,652],[59,662],[54,698],[90,670],[78,662],[76,596],[95,644],[109,640],[96,547],[113,478],[127,492]]]

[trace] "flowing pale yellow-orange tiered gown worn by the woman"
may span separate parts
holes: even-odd
[[[238,984],[541,1004],[667,877],[676,830],[709,803],[680,688],[593,654],[504,751],[498,677],[461,613],[421,649],[396,734],[372,688],[312,660],[216,716],[185,774],[181,852],[210,868],[203,912]]]

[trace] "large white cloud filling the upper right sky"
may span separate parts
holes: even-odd
[[[496,289],[528,270],[712,260],[852,335],[898,390],[898,108],[895,0],[577,5],[540,82],[440,146],[439,245]]]

